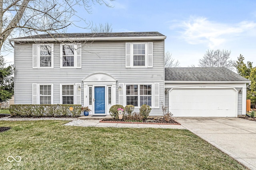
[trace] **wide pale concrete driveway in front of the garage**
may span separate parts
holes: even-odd
[[[176,117],[174,119],[238,162],[256,170],[256,121],[232,117]]]

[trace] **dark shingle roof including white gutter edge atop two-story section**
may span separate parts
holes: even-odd
[[[109,32],[109,33],[64,33],[64,34],[40,34],[13,38],[10,41],[35,41],[35,40],[129,40],[129,39],[153,39],[164,40],[166,36],[159,32]]]

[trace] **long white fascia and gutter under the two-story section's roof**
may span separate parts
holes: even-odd
[[[10,39],[13,42],[36,42],[36,41],[101,41],[101,40],[164,40],[166,36],[152,37],[80,37],[80,38],[19,38]]]

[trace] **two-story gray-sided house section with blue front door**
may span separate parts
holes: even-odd
[[[12,39],[15,104],[82,104],[91,115],[147,104],[151,115],[162,115],[165,38],[124,32]]]

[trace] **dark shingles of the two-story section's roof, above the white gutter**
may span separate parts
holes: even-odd
[[[109,38],[109,37],[155,37],[164,36],[159,32],[110,32],[110,33],[63,33],[63,34],[40,34],[35,36],[27,36],[14,38]]]

